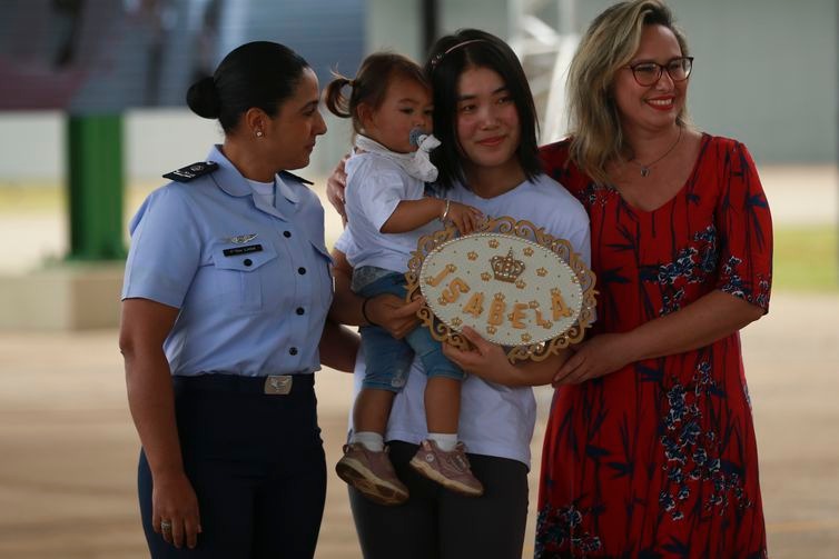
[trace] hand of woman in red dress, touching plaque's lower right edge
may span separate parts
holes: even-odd
[[[579,385],[614,372],[632,362],[633,359],[624,348],[623,341],[623,335],[602,333],[572,346],[574,355],[554,375],[553,387]]]

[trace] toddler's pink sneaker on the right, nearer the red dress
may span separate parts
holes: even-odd
[[[411,466],[421,475],[446,489],[465,497],[481,497],[484,486],[472,475],[463,442],[445,452],[433,440],[424,440],[411,459]]]

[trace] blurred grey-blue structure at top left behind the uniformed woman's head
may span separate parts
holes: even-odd
[[[0,110],[102,113],[184,107],[184,93],[253,40],[283,42],[322,80],[355,68],[363,0],[2,0]],[[316,17],[323,14],[324,17]],[[328,14],[328,17],[326,17]]]

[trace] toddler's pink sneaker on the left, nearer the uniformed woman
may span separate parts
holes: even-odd
[[[344,445],[344,458],[335,466],[338,477],[379,505],[401,505],[408,488],[393,470],[387,450],[376,452],[358,442]]]

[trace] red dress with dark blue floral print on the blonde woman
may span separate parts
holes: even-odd
[[[763,309],[769,207],[746,147],[703,136],[682,190],[654,211],[542,149],[591,218],[598,321],[624,332],[712,290]],[[556,390],[545,433],[536,557],[763,558],[758,453],[740,336]]]

